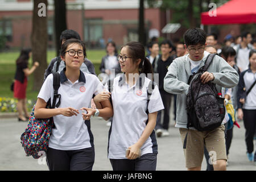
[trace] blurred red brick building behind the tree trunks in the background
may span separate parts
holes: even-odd
[[[118,46],[138,40],[138,0],[72,0],[67,2],[67,26],[79,32],[91,47],[100,47],[108,40]],[[48,45],[54,47],[53,0],[48,0]],[[11,48],[30,47],[32,32],[32,0],[0,0],[0,34],[7,38]],[[146,5],[147,6],[147,5]],[[166,13],[159,9],[144,10],[148,32],[161,30],[166,25]]]

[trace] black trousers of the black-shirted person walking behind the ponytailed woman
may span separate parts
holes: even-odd
[[[170,122],[170,106],[171,106],[171,98],[172,96],[170,94],[167,94],[163,90],[159,90],[160,95],[163,101],[164,109],[158,111],[158,116],[156,118],[156,126],[155,129],[166,129],[169,128],[169,122]],[[162,111],[164,112],[164,118],[163,123],[161,123],[161,115]]]

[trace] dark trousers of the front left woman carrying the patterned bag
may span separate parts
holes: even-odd
[[[92,171],[94,157],[94,147],[69,151],[48,148],[46,152],[50,171]]]

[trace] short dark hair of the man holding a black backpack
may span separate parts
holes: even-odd
[[[206,34],[205,31],[200,28],[191,28],[188,29],[184,36],[184,42],[186,46],[196,46],[197,44],[204,45],[206,42]]]

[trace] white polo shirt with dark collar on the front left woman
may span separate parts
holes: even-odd
[[[65,68],[64,68],[65,70]],[[53,100],[53,75],[49,75],[38,94],[38,98],[48,101],[51,97]],[[55,129],[52,129],[49,138],[49,147],[57,150],[80,150],[82,148],[93,147],[93,135],[90,131],[90,122],[82,119],[81,107],[88,107],[92,100],[93,94],[97,95],[103,91],[104,86],[95,75],[81,72],[79,80],[72,83],[65,76],[64,71],[60,72],[60,88],[58,93],[61,94],[60,106],[73,107],[79,109],[79,113],[72,117],[56,115],[53,117]],[[59,99],[56,100],[56,103]]]

